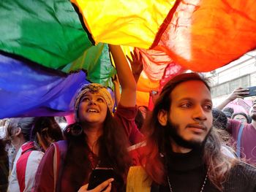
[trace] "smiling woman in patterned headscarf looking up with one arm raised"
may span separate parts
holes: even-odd
[[[116,112],[113,114],[113,99],[107,88],[97,83],[83,85],[75,96],[76,122],[64,131],[67,147],[60,147],[63,142],[57,142],[46,151],[37,170],[34,191],[89,191],[89,176],[97,167],[112,168],[116,178],[92,191],[102,191],[105,187],[105,191],[125,191],[132,163],[127,147],[140,142],[143,135],[135,125],[136,82],[121,47],[109,47],[121,85]],[[59,165],[53,163],[55,154],[59,154],[57,146],[67,151],[67,155],[59,155],[63,156],[63,161],[57,159]],[[53,167],[59,167],[59,172],[54,172]]]

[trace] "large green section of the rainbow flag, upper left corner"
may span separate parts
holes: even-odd
[[[0,1],[0,50],[58,69],[91,47],[70,1]]]

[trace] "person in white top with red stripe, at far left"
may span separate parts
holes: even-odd
[[[37,150],[30,140],[35,118],[11,118],[7,126],[7,136],[15,147],[15,156],[8,191],[31,191],[37,166],[44,153]]]

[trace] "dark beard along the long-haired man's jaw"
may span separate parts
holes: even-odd
[[[167,120],[167,134],[170,139],[173,139],[173,142],[176,142],[176,144],[180,147],[184,147],[187,149],[198,149],[205,145],[206,139],[208,138],[208,135],[211,132],[208,132],[206,135],[206,138],[203,139],[203,141],[195,141],[195,140],[186,140],[184,139],[180,134],[178,134],[178,125],[172,123],[170,120]]]

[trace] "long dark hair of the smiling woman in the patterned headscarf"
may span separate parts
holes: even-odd
[[[88,150],[86,134],[84,131],[78,131],[78,134],[74,136],[71,134],[71,131],[67,131],[66,128],[64,136],[68,141],[68,155],[64,169],[68,169],[70,173],[72,188],[78,191],[79,188],[84,185],[85,181],[88,183],[89,173],[92,169],[89,164],[89,157],[86,154],[86,150]],[[128,139],[124,134],[124,128],[113,118],[110,110],[108,110],[104,121],[102,136],[99,137],[97,142],[99,144],[99,165],[112,167],[114,169],[119,178],[115,180],[116,187],[118,191],[124,191],[125,178],[132,161],[127,151]]]

